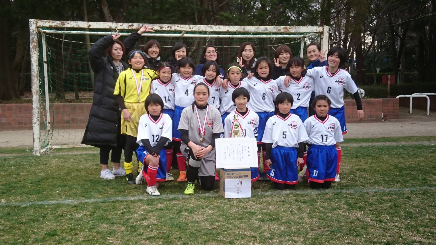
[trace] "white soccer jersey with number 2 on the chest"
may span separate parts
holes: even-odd
[[[294,98],[294,103],[291,109],[296,107],[309,107],[310,94],[312,94],[315,88],[315,81],[312,77],[304,76],[300,77],[300,80],[295,80],[291,77],[291,83],[288,87],[283,84],[286,76],[279,77],[277,85],[279,85],[279,90],[282,92],[288,92]]]

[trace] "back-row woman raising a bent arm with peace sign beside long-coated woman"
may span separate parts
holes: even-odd
[[[128,37],[126,37],[126,40],[124,40],[124,46],[126,47],[126,54],[129,54],[129,52],[134,49],[136,42],[140,40],[141,35],[144,32],[154,32],[154,30],[152,29],[153,27],[149,28],[147,26],[143,26],[137,32],[133,32]],[[157,71],[157,68],[159,67],[160,63],[162,63],[162,60],[160,59],[159,42],[154,39],[149,40],[145,44],[143,48],[143,52],[147,58],[144,65],[144,69],[151,69]]]

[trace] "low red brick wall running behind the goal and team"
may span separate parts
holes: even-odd
[[[347,122],[359,122],[356,102],[345,100]],[[381,113],[388,118],[398,118],[398,99],[362,100],[365,117],[361,122],[381,121]],[[91,103],[58,103],[50,109],[52,128],[84,129],[88,123]],[[46,114],[41,112],[41,121]],[[41,125],[43,128],[44,125]],[[0,104],[0,130],[32,129],[31,104]]]

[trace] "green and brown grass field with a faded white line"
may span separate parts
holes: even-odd
[[[99,178],[95,148],[0,149],[0,244],[436,244],[436,137],[344,144],[341,182],[224,199]],[[373,143],[372,146],[356,146]],[[389,145],[383,145],[391,142]],[[176,175],[176,171],[171,170]],[[216,182],[218,187],[218,182]]]

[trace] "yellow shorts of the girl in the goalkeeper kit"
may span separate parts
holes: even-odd
[[[127,111],[130,113],[130,121],[125,121],[123,112],[121,112],[121,134],[131,135],[136,137],[138,135],[139,119],[143,114],[147,114],[144,107],[144,102],[129,103],[124,102]]]

